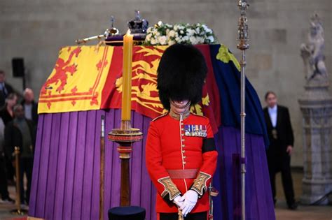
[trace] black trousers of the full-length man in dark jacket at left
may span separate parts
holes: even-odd
[[[34,159],[32,157],[23,157],[20,159],[21,203],[23,203],[23,202],[29,203],[33,164],[34,164]],[[23,184],[24,175],[26,175],[26,177],[27,177],[27,191],[24,190],[24,184]]]

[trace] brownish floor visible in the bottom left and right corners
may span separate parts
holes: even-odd
[[[293,170],[293,182],[296,198],[302,192],[301,179],[303,177],[300,170]],[[277,205],[275,215],[277,220],[332,220],[332,206],[305,206],[300,205],[298,210],[291,211],[286,207],[284,193],[280,175],[277,175]],[[14,186],[10,186],[11,197],[15,198]],[[10,214],[10,210],[15,209],[15,205],[0,204],[0,220],[18,219],[17,216]],[[268,219],[266,219],[268,220]]]

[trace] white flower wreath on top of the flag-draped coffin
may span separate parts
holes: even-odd
[[[206,24],[163,24],[161,21],[146,31],[146,45],[214,44],[217,43],[212,29]]]

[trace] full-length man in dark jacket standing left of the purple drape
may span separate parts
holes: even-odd
[[[15,147],[20,147],[20,196],[22,204],[28,204],[36,135],[34,123],[25,118],[25,110],[22,105],[15,105],[14,115],[15,118],[7,124],[5,129],[6,154],[13,161],[14,149]],[[27,191],[24,190],[23,185],[24,174],[27,177]]]

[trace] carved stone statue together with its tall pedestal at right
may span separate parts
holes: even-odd
[[[301,203],[326,205],[332,191],[332,96],[324,64],[324,30],[312,16],[308,43],[301,46],[305,93],[298,100],[303,115],[303,194]]]

